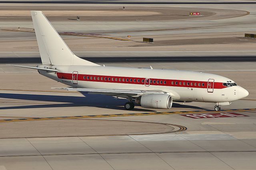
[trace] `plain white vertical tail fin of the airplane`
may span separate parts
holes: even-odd
[[[31,11],[43,65],[98,65],[74,55],[42,11]]]

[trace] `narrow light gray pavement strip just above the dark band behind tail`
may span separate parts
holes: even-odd
[[[73,51],[78,57],[211,57],[211,56],[255,56],[256,50],[228,51]],[[0,51],[0,58],[17,58],[22,63],[23,58],[40,58],[39,52]],[[150,62],[150,61],[148,61]]]

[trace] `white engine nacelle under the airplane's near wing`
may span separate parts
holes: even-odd
[[[167,94],[141,95],[135,102],[144,108],[170,109],[172,107],[172,96]]]

